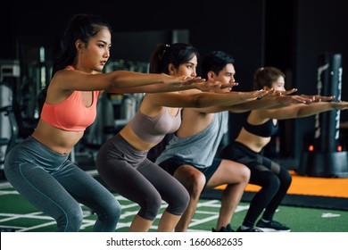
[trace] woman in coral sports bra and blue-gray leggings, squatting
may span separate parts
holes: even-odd
[[[110,26],[95,15],[79,14],[70,20],[37,129],[5,158],[6,179],[54,218],[56,231],[79,231],[83,219],[79,203],[97,214],[94,231],[114,231],[119,221],[120,204],[112,193],[68,159],[95,121],[95,106],[104,90],[134,93],[205,86],[204,79],[186,76],[100,73],[110,56],[111,38]]]

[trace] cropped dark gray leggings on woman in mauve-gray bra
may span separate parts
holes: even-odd
[[[162,199],[168,203],[167,212],[182,215],[189,201],[186,188],[146,155],[118,134],[99,149],[96,168],[114,191],[140,205],[142,218],[153,221]]]

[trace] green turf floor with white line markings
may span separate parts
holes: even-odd
[[[127,199],[117,196],[122,206],[122,214],[116,231],[126,232],[139,207]],[[240,226],[244,219],[248,203],[238,205],[231,222],[233,229]],[[157,229],[157,223],[167,204],[162,204],[158,218],[153,222],[151,231]],[[81,231],[90,231],[95,223],[95,214],[82,206],[85,217]],[[211,231],[215,228],[219,216],[220,200],[200,200],[195,217],[188,231]],[[274,218],[285,223],[293,232],[348,232],[348,211],[313,209],[294,206],[280,206]],[[29,204],[12,187],[0,188],[0,228],[16,231],[46,232],[55,229],[55,221]]]

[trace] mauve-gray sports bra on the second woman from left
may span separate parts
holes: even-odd
[[[165,135],[174,133],[180,127],[181,108],[175,117],[170,115],[167,107],[154,117],[147,116],[138,110],[129,124],[136,135],[145,142],[159,143]]]

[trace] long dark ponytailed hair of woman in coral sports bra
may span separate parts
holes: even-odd
[[[87,45],[89,39],[103,28],[112,32],[111,26],[95,14],[84,13],[72,16],[62,37],[61,52],[54,60],[52,77],[56,71],[60,71],[74,62],[78,53],[75,42],[78,39]]]

